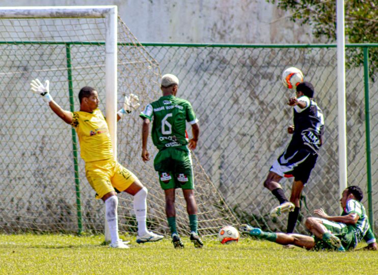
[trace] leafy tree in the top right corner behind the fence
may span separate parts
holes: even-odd
[[[301,25],[312,27],[317,38],[336,41],[336,1],[335,0],[266,0],[278,4],[284,11],[289,11],[291,20]],[[377,43],[378,9],[376,0],[345,1],[345,39],[347,43]],[[370,76],[374,80],[374,71],[378,62],[378,49],[369,49]],[[348,49],[346,66],[361,66],[363,52],[356,48]]]

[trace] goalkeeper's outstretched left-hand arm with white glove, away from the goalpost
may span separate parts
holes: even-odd
[[[50,106],[51,110],[55,112],[60,118],[63,119],[63,121],[67,124],[71,124],[73,120],[73,115],[70,111],[63,110],[61,106],[56,103],[50,93],[49,93],[49,85],[50,82],[48,80],[45,81],[45,84],[43,85],[41,81],[39,81],[38,78],[32,80],[30,83],[31,89],[34,94],[39,95],[43,98],[45,102],[48,103],[48,106]]]

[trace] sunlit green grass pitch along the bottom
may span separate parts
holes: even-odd
[[[205,238],[195,249],[175,250],[170,239],[116,250],[103,236],[0,235],[1,274],[377,274],[378,252],[311,252],[283,249],[268,241],[241,238],[221,245]]]

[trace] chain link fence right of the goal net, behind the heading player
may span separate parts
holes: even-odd
[[[371,44],[370,44],[371,46]],[[377,45],[372,45],[376,47]],[[322,207],[339,215],[337,54],[335,45],[174,45],[145,44],[162,74],[176,74],[178,97],[192,102],[200,120],[196,149],[201,165],[241,222],[273,231],[286,228],[287,215],[269,218],[276,198],[263,187],[269,168],[291,136],[292,108],[286,102],[294,91],[280,80],[287,67],[300,68],[315,86],[314,98],[325,116],[324,144],[308,184],[296,230],[304,218]],[[366,47],[366,46],[365,46]],[[367,46],[368,47],[368,46]],[[378,83],[376,64],[369,78],[371,168],[367,164],[364,67],[352,65],[348,53],[363,56],[363,45],[346,48],[346,121],[348,185],[360,186],[368,209],[367,171],[377,175]],[[372,47],[368,47],[371,51]],[[349,66],[348,66],[349,65]],[[292,179],[282,179],[287,197]],[[372,182],[375,230],[378,229],[378,191]]]

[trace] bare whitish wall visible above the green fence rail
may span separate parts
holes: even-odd
[[[265,0],[3,0],[11,6],[117,5],[140,42],[316,43]]]

